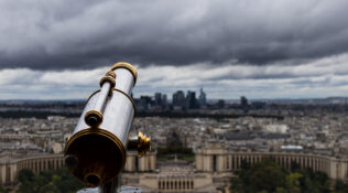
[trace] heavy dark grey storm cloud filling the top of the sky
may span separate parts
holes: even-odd
[[[0,67],[296,64],[348,52],[348,1],[0,2]]]

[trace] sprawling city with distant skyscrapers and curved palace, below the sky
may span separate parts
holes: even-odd
[[[225,101],[207,96],[200,88],[198,96],[177,90],[171,100],[161,93],[134,98],[130,136],[146,133],[153,144],[142,158],[128,152],[123,185],[143,192],[230,192],[243,161],[262,159],[274,159],[285,169],[297,162],[346,180],[348,98],[250,101],[241,96]],[[22,168],[34,174],[64,168],[65,142],[84,105],[0,103],[0,182],[8,191],[23,189],[17,179]]]

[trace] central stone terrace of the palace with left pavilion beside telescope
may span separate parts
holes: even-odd
[[[135,152],[128,153],[121,183],[140,187],[144,193],[208,193],[222,191],[232,176],[231,172],[197,172],[194,164],[184,161],[154,163],[155,154],[151,157],[137,158]]]

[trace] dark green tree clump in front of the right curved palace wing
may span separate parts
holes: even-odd
[[[336,184],[333,186],[333,184]],[[295,163],[286,171],[272,160],[254,165],[246,162],[231,179],[232,193],[347,193],[348,185],[333,182],[326,173],[301,169]]]

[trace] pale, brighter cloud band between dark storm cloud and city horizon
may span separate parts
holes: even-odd
[[[139,79],[134,96],[204,87],[208,98],[301,98],[346,96],[348,93],[348,54],[285,65],[194,65],[137,66]],[[0,69],[0,99],[87,98],[99,88],[108,67],[95,69],[37,71]]]

